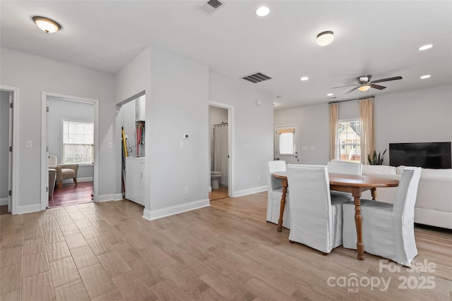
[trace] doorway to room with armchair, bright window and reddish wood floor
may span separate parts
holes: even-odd
[[[42,92],[42,107],[41,209],[95,202],[99,174],[97,99]],[[49,173],[55,173],[52,169],[58,169],[49,169],[49,158],[56,159],[56,166],[66,164],[61,167],[70,169],[75,178],[49,179]]]

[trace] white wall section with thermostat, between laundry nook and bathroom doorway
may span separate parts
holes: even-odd
[[[151,90],[146,93],[146,137],[152,144],[146,150],[146,164],[152,166],[146,179],[149,209],[208,204],[208,66],[153,47],[150,74]],[[184,140],[184,133],[191,135],[189,140]],[[189,194],[184,194],[185,187]]]

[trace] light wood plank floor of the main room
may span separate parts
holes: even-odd
[[[291,244],[266,202],[218,199],[156,221],[129,201],[2,215],[0,300],[451,300],[451,231],[416,228],[416,270],[379,271],[380,257]],[[338,286],[353,276],[362,285]],[[388,288],[364,286],[376,278]]]

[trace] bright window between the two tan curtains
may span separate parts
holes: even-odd
[[[339,121],[339,152],[341,161],[361,161],[359,119]]]

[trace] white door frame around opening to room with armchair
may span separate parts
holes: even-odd
[[[99,100],[86,97],[58,94],[42,91],[41,94],[41,210],[49,205],[47,191],[49,182],[49,161],[47,157],[47,98],[56,97],[76,102],[88,102],[94,105],[94,175],[93,175],[93,201],[99,199]]]

